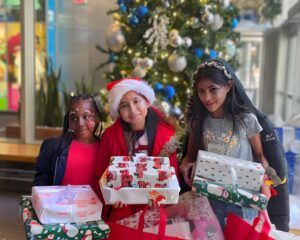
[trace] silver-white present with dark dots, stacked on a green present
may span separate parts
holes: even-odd
[[[259,192],[264,172],[260,163],[198,151],[195,176]]]

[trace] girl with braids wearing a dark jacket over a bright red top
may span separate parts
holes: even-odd
[[[63,134],[46,139],[37,157],[34,185],[94,184],[100,112],[88,94],[71,97]]]

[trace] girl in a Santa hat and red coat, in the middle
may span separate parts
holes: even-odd
[[[151,104],[153,89],[138,79],[122,79],[108,84],[110,115],[115,123],[103,133],[99,150],[97,179],[109,165],[111,156],[169,156],[177,173],[174,128],[163,120],[162,114]],[[117,209],[122,207],[122,209]],[[133,215],[141,207],[123,207],[117,203],[103,218],[111,221]]]

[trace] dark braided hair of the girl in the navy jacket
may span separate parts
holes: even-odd
[[[69,113],[70,113],[70,107],[72,106],[72,104],[74,102],[77,102],[77,101],[82,101],[82,100],[90,100],[93,107],[94,107],[94,111],[96,113],[96,118],[99,119],[99,124],[100,124],[100,135],[101,135],[101,131],[102,131],[102,121],[101,121],[101,113],[100,113],[100,110],[99,110],[99,107],[97,105],[97,102],[95,100],[95,98],[90,95],[90,94],[87,94],[87,93],[84,93],[84,94],[76,94],[76,95],[72,95],[70,96],[70,102],[69,102],[69,106],[68,106],[68,109],[66,111],[66,114],[64,116],[64,121],[63,121],[63,134],[66,134],[70,131],[69,129]]]

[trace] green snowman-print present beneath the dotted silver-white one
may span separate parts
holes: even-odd
[[[194,177],[192,191],[211,199],[258,210],[265,210],[268,204],[268,199],[261,193],[220,184],[198,176]]]

